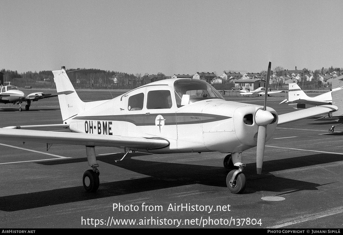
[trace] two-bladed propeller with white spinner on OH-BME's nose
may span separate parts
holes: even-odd
[[[267,79],[265,81],[263,110],[260,109],[255,114],[255,121],[256,121],[256,124],[259,126],[258,134],[257,134],[257,149],[256,149],[256,170],[257,170],[257,174],[259,175],[262,172],[265,137],[267,136],[267,125],[270,124],[274,120],[274,116],[269,111],[267,111],[267,97],[268,97],[271,67],[272,67],[272,63],[269,62]]]

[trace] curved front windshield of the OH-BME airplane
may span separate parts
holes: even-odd
[[[204,99],[224,99],[213,86],[200,79],[180,79],[174,83],[177,107],[181,107],[183,95],[189,95],[189,103]]]

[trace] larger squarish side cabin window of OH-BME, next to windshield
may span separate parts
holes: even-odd
[[[172,105],[170,91],[148,92],[147,109],[171,108]]]

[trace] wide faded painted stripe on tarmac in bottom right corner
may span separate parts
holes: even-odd
[[[290,226],[290,225],[298,224],[298,223],[303,223],[310,220],[317,220],[319,218],[323,218],[330,215],[340,214],[342,212],[343,212],[342,206],[335,207],[335,208],[331,208],[331,209],[318,212],[318,213],[304,214],[304,215],[300,215],[294,218],[289,218],[287,220],[280,221],[279,224],[276,224],[268,228],[282,228],[282,227],[286,227],[286,226]]]

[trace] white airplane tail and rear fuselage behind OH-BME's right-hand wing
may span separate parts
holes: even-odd
[[[306,108],[306,104],[315,106],[332,104],[332,92],[339,91],[341,89],[343,89],[343,86],[332,89],[332,91],[326,92],[315,97],[309,97],[305,94],[304,91],[300,89],[300,87],[296,83],[289,83],[288,100],[285,99],[280,104],[286,103],[297,105],[297,107],[294,108]]]

